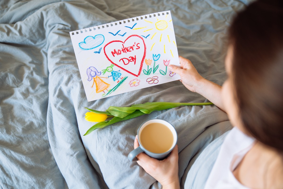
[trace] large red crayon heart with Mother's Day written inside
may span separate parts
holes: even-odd
[[[104,46],[106,58],[115,66],[138,77],[145,59],[146,46],[139,35],[130,35],[123,42],[110,41]]]

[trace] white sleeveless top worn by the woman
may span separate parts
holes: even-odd
[[[233,175],[233,170],[254,145],[254,138],[234,127],[223,141],[215,164],[205,184],[205,189],[248,189]]]

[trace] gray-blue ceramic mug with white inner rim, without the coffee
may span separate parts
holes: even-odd
[[[143,147],[143,145],[141,144],[141,142],[140,142],[141,131],[143,130],[143,128],[145,128],[145,126],[147,126],[151,123],[161,123],[161,124],[167,126],[170,129],[170,131],[172,132],[172,134],[173,134],[173,144],[168,151],[166,151],[164,153],[153,153],[153,152],[150,152],[147,149],[145,149]],[[148,120],[148,121],[144,122],[143,124],[141,124],[140,128],[138,129],[138,142],[139,142],[140,146],[137,147],[136,149],[134,149],[133,151],[131,151],[128,155],[128,159],[130,161],[138,161],[136,156],[138,154],[142,153],[142,152],[144,152],[145,154],[149,155],[152,158],[163,159],[173,150],[173,148],[177,144],[177,132],[176,132],[175,128],[169,122],[162,120],[162,119],[151,119],[151,120]]]

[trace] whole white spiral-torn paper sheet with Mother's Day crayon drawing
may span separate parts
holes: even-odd
[[[180,79],[167,69],[169,64],[179,66],[170,11],[102,24],[70,36],[88,101]]]

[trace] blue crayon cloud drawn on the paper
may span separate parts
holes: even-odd
[[[100,46],[103,42],[104,42],[104,36],[101,34],[95,35],[93,36],[87,36],[83,42],[79,43],[79,47],[82,50],[90,50],[90,49],[94,49],[97,48],[98,46]]]

